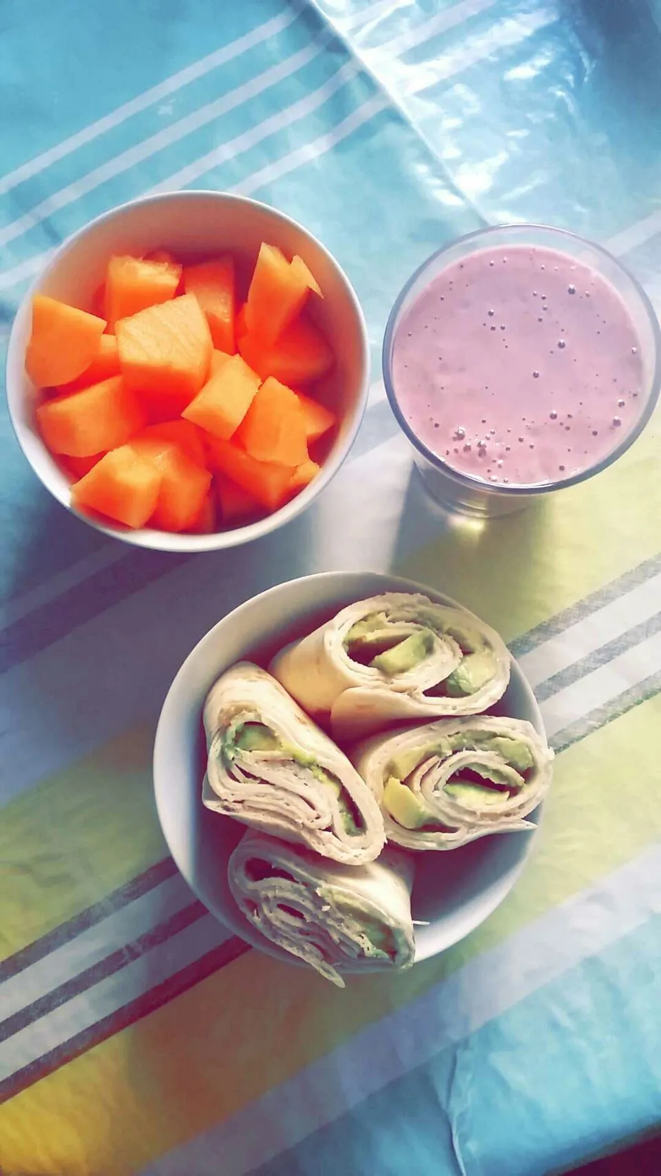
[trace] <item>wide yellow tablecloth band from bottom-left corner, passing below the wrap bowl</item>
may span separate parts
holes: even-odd
[[[660,721],[656,696],[559,756],[529,867],[463,943],[345,991],[251,951],[1,1108],[0,1168],[135,1172],[633,858],[661,830],[661,791],[626,787],[654,779]]]

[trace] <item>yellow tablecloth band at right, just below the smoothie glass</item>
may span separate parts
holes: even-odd
[[[516,515],[458,520],[398,572],[454,596],[512,641],[659,553],[660,452],[657,412],[603,474]]]

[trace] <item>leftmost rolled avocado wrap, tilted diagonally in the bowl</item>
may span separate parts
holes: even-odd
[[[203,721],[207,808],[346,864],[379,856],[386,834],[374,796],[266,670],[239,662],[222,674]]]

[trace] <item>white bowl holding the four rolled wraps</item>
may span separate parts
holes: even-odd
[[[369,572],[325,572],[278,584],[228,613],[202,637],[174,679],[161,710],[154,788],[172,856],[216,918],[253,947],[287,963],[298,961],[243,918],[227,886],[227,861],[246,827],[202,806],[202,706],[215,680],[234,662],[251,657],[266,666],[286,642],[309,633],[345,604],[383,592],[422,592],[456,607],[432,588]],[[535,696],[515,661],[507,691],[493,713],[527,719],[543,734]],[[538,808],[529,820],[539,822],[540,816]],[[519,877],[534,835],[499,834],[461,849],[415,855],[413,917],[428,922],[415,928],[416,961],[456,943],[495,910]]]

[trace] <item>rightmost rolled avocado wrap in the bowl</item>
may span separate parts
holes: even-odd
[[[456,849],[534,828],[553,751],[532,723],[476,715],[376,735],[352,756],[381,806],[389,842]]]

